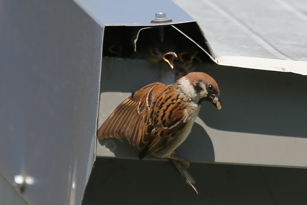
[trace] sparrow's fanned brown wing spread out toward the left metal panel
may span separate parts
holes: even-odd
[[[162,83],[152,83],[136,91],[119,104],[103,122],[97,130],[97,138],[125,138],[135,147],[143,148],[150,139],[150,135],[146,134],[148,125],[143,120],[145,111],[148,110],[146,109],[147,96],[151,100],[152,95],[165,87]]]

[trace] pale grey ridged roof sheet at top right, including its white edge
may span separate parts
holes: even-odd
[[[174,2],[198,22],[218,64],[307,75],[303,1]]]

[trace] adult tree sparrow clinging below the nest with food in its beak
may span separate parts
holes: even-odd
[[[188,162],[172,156],[187,138],[202,101],[221,109],[219,87],[205,73],[189,73],[175,84],[152,83],[124,100],[97,131],[98,139],[125,138],[138,149],[139,159],[153,155]]]

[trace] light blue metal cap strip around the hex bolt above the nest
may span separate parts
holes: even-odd
[[[101,27],[105,25],[148,26],[155,14],[164,12],[171,24],[194,21],[170,0],[73,0]],[[170,24],[170,23],[166,23]],[[156,24],[157,25],[157,24]],[[160,24],[158,24],[160,25]]]

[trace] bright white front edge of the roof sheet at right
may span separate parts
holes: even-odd
[[[290,59],[271,59],[242,56],[219,56],[216,57],[218,65],[226,65],[240,68],[258,70],[270,70],[279,72],[290,72],[307,75],[307,61],[293,61]]]

